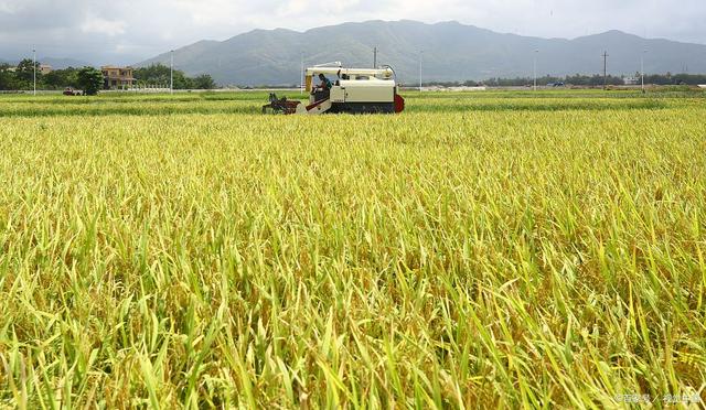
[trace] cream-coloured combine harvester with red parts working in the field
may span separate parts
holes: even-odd
[[[278,99],[270,94],[263,114],[395,114],[405,109],[405,99],[398,94],[392,67],[343,68],[341,63],[334,64],[307,68],[308,105],[286,97]],[[338,77],[330,90],[313,87],[314,77],[321,74]]]

